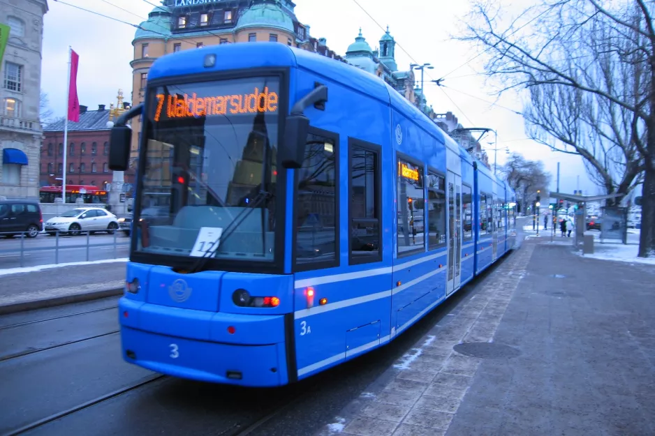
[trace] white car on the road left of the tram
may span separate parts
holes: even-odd
[[[44,227],[51,236],[57,231],[78,236],[81,232],[114,234],[119,225],[117,216],[101,207],[80,207],[50,218]]]

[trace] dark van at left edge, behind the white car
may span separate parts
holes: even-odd
[[[43,230],[43,214],[37,200],[0,200],[0,236],[24,233],[35,238]]]

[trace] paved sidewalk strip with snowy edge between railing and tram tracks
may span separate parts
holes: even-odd
[[[125,283],[124,260],[47,268],[0,270],[0,315],[117,296]],[[10,273],[8,273],[10,272]]]

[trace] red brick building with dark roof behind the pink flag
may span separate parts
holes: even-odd
[[[68,156],[66,183],[96,185],[105,188],[112,182],[109,170],[110,110],[98,105],[88,110],[80,105],[80,121],[68,121]],[[43,129],[41,144],[40,186],[61,186],[64,165],[64,119]],[[125,183],[133,183],[132,172],[125,173]]]

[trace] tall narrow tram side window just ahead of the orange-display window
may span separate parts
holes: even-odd
[[[380,149],[356,140],[350,146],[350,263],[378,262],[382,260]]]

